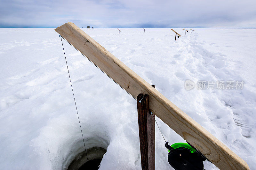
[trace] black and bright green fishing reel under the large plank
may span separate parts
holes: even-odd
[[[168,142],[165,147],[169,149],[168,162],[175,170],[203,170],[207,158],[192,145],[175,143],[171,146]]]

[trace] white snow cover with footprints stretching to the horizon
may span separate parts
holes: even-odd
[[[256,169],[255,29],[83,29]],[[0,167],[67,169],[84,151],[59,34],[0,29]],[[141,169],[136,100],[67,42],[87,148],[107,149],[100,169]],[[243,90],[185,90],[187,79],[243,80]],[[185,142],[159,118],[170,144]],[[156,169],[172,169],[156,126]],[[218,169],[204,162],[205,169]]]

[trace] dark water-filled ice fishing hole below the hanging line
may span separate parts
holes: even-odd
[[[68,166],[68,170],[97,170],[99,169],[100,162],[103,158],[103,155],[107,152],[106,149],[101,147],[92,147],[87,149],[86,153],[79,153],[76,158]]]

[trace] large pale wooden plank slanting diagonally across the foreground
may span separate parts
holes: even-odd
[[[186,141],[196,147],[220,169],[249,169],[247,163],[226,145],[186,115],[163,94],[140,78],[124,63],[84,33],[74,23],[66,23],[55,29],[76,49],[96,64],[134,98],[138,94],[149,95],[149,109]]]

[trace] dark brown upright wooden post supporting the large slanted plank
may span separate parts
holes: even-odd
[[[142,99],[143,98],[143,99]],[[142,99],[142,102],[139,101]],[[155,115],[149,113],[149,96],[137,96],[140,135],[140,158],[142,170],[155,170]],[[153,117],[154,116],[154,117]]]

